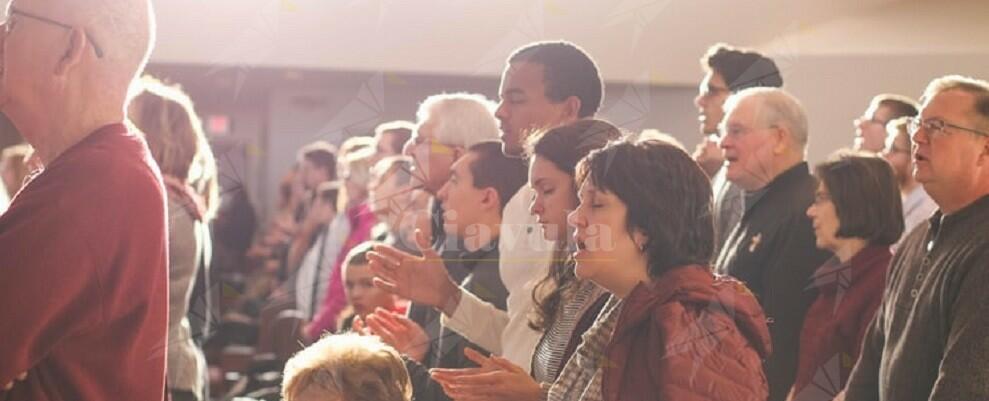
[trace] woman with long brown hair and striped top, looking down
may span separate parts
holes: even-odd
[[[544,333],[532,356],[532,376],[512,366],[506,372],[514,371],[514,376],[505,375],[501,383],[491,385],[484,382],[489,377],[474,375],[471,369],[434,370],[434,377],[453,399],[478,394],[513,401],[545,399],[545,390],[608,298],[603,288],[574,275],[573,242],[569,241],[573,231],[567,225],[567,214],[577,207],[577,163],[621,136],[607,122],[580,120],[529,138],[529,185],[535,191],[529,210],[538,218],[543,237],[557,246],[547,276],[532,292],[536,309],[530,325]]]

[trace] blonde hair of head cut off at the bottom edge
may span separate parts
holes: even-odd
[[[317,386],[327,397],[350,401],[409,401],[412,384],[405,363],[378,337],[323,337],[285,364],[282,397],[294,401]]]

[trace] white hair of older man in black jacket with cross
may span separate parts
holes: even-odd
[[[807,150],[809,139],[807,112],[797,98],[780,88],[749,88],[738,91],[725,100],[725,115],[731,114],[742,101],[755,103],[756,118],[766,126],[782,126],[790,133],[801,152]],[[727,119],[726,119],[727,120]],[[725,121],[722,121],[722,125]]]

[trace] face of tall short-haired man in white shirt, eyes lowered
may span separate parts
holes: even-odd
[[[564,102],[554,103],[546,97],[544,68],[541,64],[510,64],[501,78],[501,100],[495,117],[501,125],[502,151],[520,156],[526,137],[533,131],[564,123]]]

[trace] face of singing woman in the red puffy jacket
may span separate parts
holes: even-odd
[[[577,277],[608,289],[609,276],[615,269],[641,256],[626,225],[628,207],[618,196],[597,188],[590,179],[581,184],[578,198],[577,209],[568,217],[577,247],[574,271]]]

